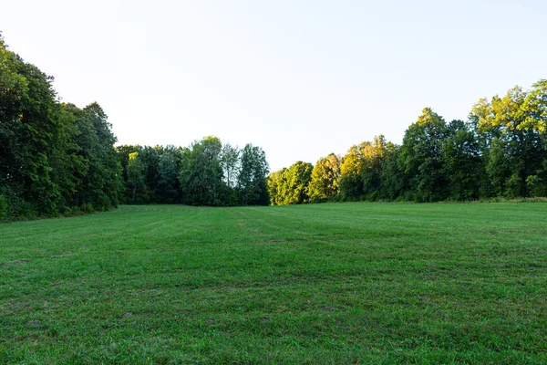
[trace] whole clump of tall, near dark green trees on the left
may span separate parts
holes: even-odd
[[[52,80],[0,39],[0,194],[15,219],[118,204],[107,116],[97,103],[59,103]]]

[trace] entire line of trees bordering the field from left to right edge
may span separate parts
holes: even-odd
[[[0,34],[0,221],[119,203],[257,205],[547,196],[547,80],[480,99],[468,120],[424,109],[400,145],[377,136],[315,166],[269,173],[262,148],[205,137],[115,146],[98,103],[61,102],[53,78]]]

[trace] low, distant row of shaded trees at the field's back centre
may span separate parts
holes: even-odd
[[[240,150],[210,136],[185,148],[123,145],[117,151],[122,203],[269,203],[266,155],[250,143]]]

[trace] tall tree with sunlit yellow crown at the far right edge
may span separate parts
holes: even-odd
[[[546,156],[542,82],[535,85],[532,97],[515,87],[503,98],[480,99],[471,110],[470,120],[480,135],[492,195],[527,196],[531,193],[529,177],[542,171]]]

